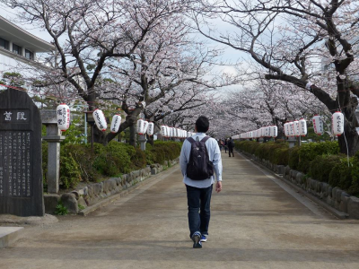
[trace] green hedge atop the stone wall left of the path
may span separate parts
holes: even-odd
[[[104,146],[66,143],[60,152],[60,184],[62,188],[75,187],[80,181],[97,182],[104,178],[118,177],[132,170],[142,169],[153,163],[164,164],[180,156],[181,143],[154,142],[141,151],[126,143],[110,142]],[[48,144],[42,145],[44,187],[47,187]]]

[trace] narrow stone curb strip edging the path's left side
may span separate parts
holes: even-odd
[[[166,171],[169,171],[171,169],[174,169],[177,165],[173,165],[170,169],[166,169]],[[128,194],[130,194],[131,192],[133,192],[134,190],[136,190],[136,188],[144,186],[146,184],[149,184],[151,182],[153,182],[153,180],[157,179],[159,176],[162,176],[160,173],[157,173],[156,175],[153,175],[150,178],[146,178],[141,182],[136,183],[136,185],[132,186],[132,187],[128,187],[125,190],[122,190],[121,192],[119,192],[118,194],[115,195],[111,195],[107,198],[102,199],[101,201],[99,201],[96,204],[92,204],[87,206],[85,209],[83,209],[82,211],[80,211],[78,214],[81,216],[86,216],[89,213],[92,213],[93,211],[101,208],[102,206],[106,206],[107,204],[110,204],[116,200],[118,200],[119,198],[126,196]]]

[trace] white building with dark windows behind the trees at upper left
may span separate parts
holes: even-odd
[[[19,64],[39,66],[37,54],[54,49],[52,44],[0,16],[0,72],[22,74],[16,70]]]

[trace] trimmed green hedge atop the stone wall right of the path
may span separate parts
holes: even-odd
[[[359,152],[348,160],[339,154],[337,142],[305,143],[291,149],[283,141],[257,143],[236,142],[237,150],[255,154],[274,164],[289,165],[332,187],[340,187],[351,195],[359,195]]]

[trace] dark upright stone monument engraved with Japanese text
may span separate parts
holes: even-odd
[[[25,91],[0,93],[0,214],[43,216],[41,119]]]

